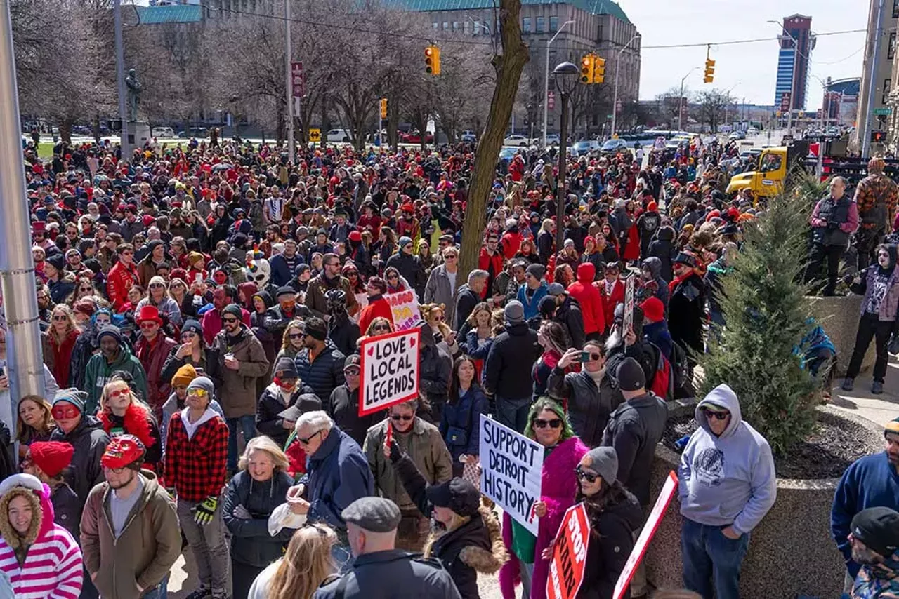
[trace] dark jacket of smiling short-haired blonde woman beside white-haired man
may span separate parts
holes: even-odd
[[[284,554],[284,548],[295,532],[281,529],[269,534],[269,516],[275,507],[287,501],[287,489],[293,484],[287,472],[276,471],[271,480],[258,482],[247,471],[237,472],[225,489],[222,519],[234,535],[231,558],[241,564],[265,568]],[[234,510],[243,506],[253,516],[249,520],[237,518]]]

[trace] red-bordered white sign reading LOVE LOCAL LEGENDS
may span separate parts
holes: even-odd
[[[420,329],[403,330],[362,341],[359,415],[418,397]]]

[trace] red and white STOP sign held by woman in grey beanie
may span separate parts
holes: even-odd
[[[574,599],[583,583],[590,545],[590,518],[583,501],[565,511],[549,562],[547,599]]]

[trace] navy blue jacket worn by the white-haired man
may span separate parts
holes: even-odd
[[[324,522],[346,530],[341,512],[353,501],[375,494],[375,478],[362,448],[334,425],[325,443],[307,459],[306,497],[309,522]]]

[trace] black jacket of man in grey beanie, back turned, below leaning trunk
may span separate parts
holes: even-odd
[[[488,393],[510,399],[530,398],[533,388],[526,373],[542,354],[537,331],[527,322],[516,322],[494,339],[484,363],[484,386]]]

